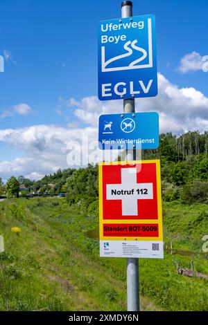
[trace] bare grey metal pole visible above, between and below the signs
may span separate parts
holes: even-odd
[[[121,17],[132,17],[132,2],[121,3]],[[123,100],[123,112],[135,113],[135,99]],[[126,150],[126,160],[136,160],[136,150]],[[128,311],[139,311],[139,259],[127,259],[127,307]]]

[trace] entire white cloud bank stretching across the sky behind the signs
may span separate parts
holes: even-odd
[[[208,97],[193,87],[180,89],[161,74],[158,75],[158,82],[159,95],[136,100],[136,111],[157,111],[161,133],[207,131]],[[122,100],[101,102],[96,96],[85,97],[80,101],[70,99],[67,104],[76,118],[67,127],[35,125],[21,129],[0,129],[0,141],[24,151],[21,158],[0,161],[2,178],[8,178],[12,174],[40,178],[59,168],[67,168],[70,149],[74,143],[81,143],[82,139],[85,139],[83,158],[86,160],[86,139],[89,139],[89,143],[96,143],[98,139],[98,116],[123,111]],[[85,127],[81,128],[80,122]]]

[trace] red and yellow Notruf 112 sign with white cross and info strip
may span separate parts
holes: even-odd
[[[159,160],[99,166],[101,257],[163,258],[160,186]]]

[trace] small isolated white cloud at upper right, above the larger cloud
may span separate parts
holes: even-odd
[[[189,73],[191,71],[202,71],[203,57],[200,53],[193,51],[180,59],[179,71]]]

